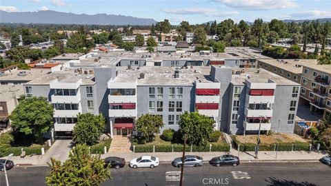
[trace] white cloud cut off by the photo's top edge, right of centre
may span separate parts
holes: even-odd
[[[285,8],[297,8],[299,5],[294,0],[211,0],[225,4],[231,8],[245,10],[274,10]]]

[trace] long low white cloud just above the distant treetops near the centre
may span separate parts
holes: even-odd
[[[215,8],[181,8],[181,9],[163,9],[163,12],[170,14],[203,14],[207,17],[230,17],[239,14],[239,12],[219,12]]]

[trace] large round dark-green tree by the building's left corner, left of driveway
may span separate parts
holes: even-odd
[[[12,129],[40,141],[53,121],[53,106],[44,97],[23,99],[10,114]]]

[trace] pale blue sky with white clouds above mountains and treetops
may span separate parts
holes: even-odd
[[[75,14],[121,14],[132,17],[205,23],[331,17],[331,0],[1,0],[0,10],[28,12],[56,10]]]

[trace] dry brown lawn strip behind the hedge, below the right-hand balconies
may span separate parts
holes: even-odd
[[[257,134],[255,135],[245,135],[245,136],[236,136],[237,140],[241,143],[257,143]],[[294,142],[303,142],[308,143],[309,141],[297,134],[284,134],[284,133],[274,133],[270,136],[261,135],[261,143],[264,144],[274,144],[274,143],[294,143]]]

